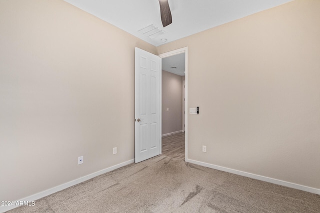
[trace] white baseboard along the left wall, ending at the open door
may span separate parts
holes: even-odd
[[[32,201],[38,200],[38,199],[43,198],[45,196],[48,196],[48,195],[51,195],[53,193],[59,192],[59,191],[64,190],[64,189],[66,189],[68,187],[71,187],[71,186],[74,186],[76,184],[82,183],[82,182],[87,181],[87,180],[89,180],[91,178],[94,178],[96,176],[102,175],[104,173],[110,172],[112,170],[118,169],[120,167],[126,166],[126,165],[131,164],[131,163],[134,163],[134,159],[122,162],[120,164],[114,165],[112,167],[109,167],[109,168],[106,168],[106,169],[103,169],[103,170],[100,170],[100,171],[97,171],[97,172],[94,172],[92,174],[83,176],[81,178],[75,179],[75,180],[67,182],[65,184],[61,184],[59,186],[53,187],[51,189],[44,190],[42,192],[39,192],[37,194],[28,196],[26,198],[19,199],[18,201],[14,201],[13,204],[15,204],[16,202],[20,202],[20,201],[32,202]],[[4,213],[4,212],[12,210],[12,209],[14,209],[16,207],[18,207],[18,206],[0,206],[0,213]]]

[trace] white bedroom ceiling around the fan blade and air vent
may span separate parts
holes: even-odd
[[[65,0],[142,40],[159,46],[291,0],[168,0],[172,23],[162,27],[158,0]],[[151,39],[138,30],[153,24]]]

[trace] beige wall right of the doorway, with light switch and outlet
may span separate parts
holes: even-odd
[[[189,159],[320,189],[319,11],[295,0],[157,48],[188,47]]]

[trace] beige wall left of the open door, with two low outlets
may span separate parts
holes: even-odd
[[[0,201],[134,158],[135,46],[156,51],[63,0],[0,1]]]

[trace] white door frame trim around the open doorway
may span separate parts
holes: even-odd
[[[188,106],[188,47],[182,47],[182,48],[179,48],[179,49],[175,49],[175,50],[172,50],[172,51],[169,51],[169,52],[164,52],[164,53],[161,53],[161,54],[158,54],[158,56],[160,57],[160,71],[162,72],[162,69],[161,69],[161,64],[162,64],[162,58],[166,58],[166,57],[170,57],[170,56],[173,56],[173,55],[177,55],[177,54],[181,54],[181,53],[184,53],[184,63],[185,63],[185,106],[184,106],[184,111],[185,111],[185,114],[184,114],[184,119],[185,119],[185,127],[184,127],[184,161],[187,161],[188,160],[188,116],[187,116],[187,106]],[[161,72],[160,72],[160,75],[161,75]],[[162,76],[162,75],[161,75]],[[161,84],[162,84],[162,77],[160,77],[160,97],[162,97],[162,87],[161,87]],[[160,107],[162,105],[162,98],[160,98]],[[160,122],[161,122],[161,119],[162,118],[162,114],[161,114],[161,108],[160,108]],[[162,125],[162,124],[161,124]],[[160,133],[161,133],[161,128],[160,128]],[[161,134],[160,134],[161,135]],[[161,146],[162,146],[162,143],[161,143]],[[162,153],[162,150],[161,152]]]

